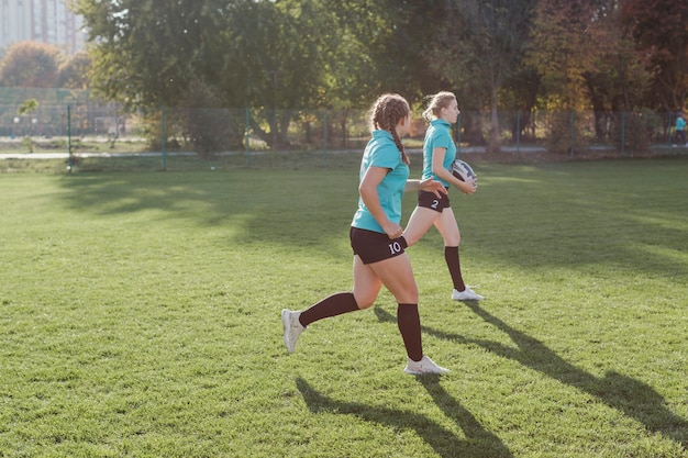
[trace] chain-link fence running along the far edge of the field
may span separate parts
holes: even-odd
[[[59,98],[71,99],[57,103]],[[175,161],[221,158],[251,166],[266,152],[280,152],[292,158],[311,155],[328,166],[336,153],[359,153],[369,138],[365,110],[163,107],[127,113],[116,103],[59,92],[51,102],[25,108],[20,102],[0,103],[0,155],[5,158],[54,154],[67,155],[70,166],[120,158],[145,164],[143,168],[168,168]],[[460,153],[517,157],[532,152],[570,157],[596,152],[683,154],[684,142],[679,145],[675,138],[676,115],[652,111],[462,112],[454,135]],[[421,148],[425,130],[423,120],[413,120],[404,139],[409,149]]]

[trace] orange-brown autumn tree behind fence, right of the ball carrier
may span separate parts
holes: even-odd
[[[547,109],[592,108],[598,139],[611,133],[611,124],[620,132],[621,113],[642,107],[651,74],[635,49],[632,27],[622,21],[619,0],[547,0],[536,12],[529,59],[543,79]],[[574,125],[577,139],[579,127]],[[555,118],[553,129],[570,132],[570,116]]]

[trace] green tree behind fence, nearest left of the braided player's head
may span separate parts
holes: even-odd
[[[288,146],[287,129],[299,109],[322,101],[329,52],[324,37],[330,35],[323,24],[332,26],[329,18],[313,0],[244,2],[229,16],[224,70],[235,77],[214,75],[211,80],[258,110],[252,129],[273,147]]]

